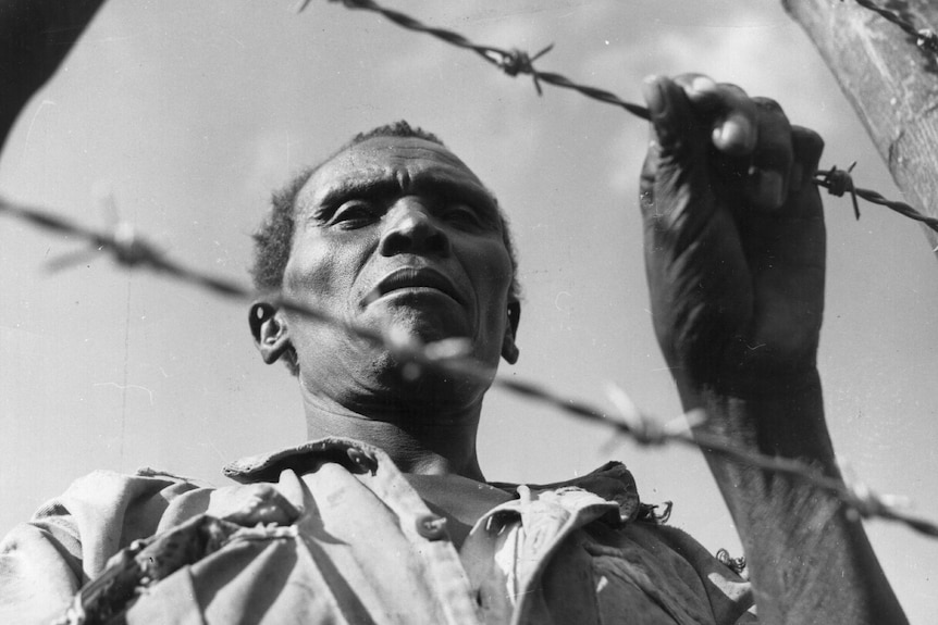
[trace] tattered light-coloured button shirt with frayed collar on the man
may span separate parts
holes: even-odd
[[[106,584],[95,592],[120,595],[113,572],[128,546],[151,577],[162,572],[158,582],[137,578],[129,600],[111,607],[128,608],[128,624],[754,622],[749,583],[656,523],[618,463],[563,484],[498,485],[511,498],[458,546],[446,520],[368,445],[312,441],[225,474],[240,485],[152,470],[76,480],[0,543],[0,623],[50,623],[96,578]],[[215,520],[234,518],[232,501],[264,491],[298,518]]]

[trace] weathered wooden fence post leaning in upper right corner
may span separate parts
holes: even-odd
[[[876,0],[938,29],[935,0]],[[782,0],[860,115],[905,201],[938,217],[938,55],[853,0]],[[938,233],[924,227],[933,250]],[[938,251],[936,251],[938,257]]]

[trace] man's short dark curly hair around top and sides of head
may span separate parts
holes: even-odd
[[[271,197],[270,212],[261,223],[257,233],[254,235],[254,265],[250,268],[254,286],[261,292],[279,291],[283,287],[283,274],[286,270],[286,263],[289,260],[289,250],[293,245],[293,234],[295,228],[296,199],[299,192],[309,182],[309,178],[316,173],[319,167],[331,161],[341,152],[357,146],[373,137],[404,137],[417,138],[425,141],[431,141],[442,147],[446,145],[441,141],[433,133],[428,133],[419,127],[415,128],[406,121],[402,120],[393,124],[378,126],[366,133],[359,133],[348,142],[342,146],[338,150],[330,154],[328,159],[303,170],[295,175],[283,187],[274,191]],[[492,196],[494,199],[494,195]],[[496,200],[497,205],[497,200]],[[508,250],[508,257],[511,260],[511,286],[509,296],[514,299],[519,299],[521,296],[520,285],[518,284],[518,261],[515,252],[515,245],[511,238],[511,232],[508,225],[508,218],[505,212],[498,207],[498,217],[502,221],[502,237],[505,242],[505,249]],[[295,364],[287,363],[291,372],[296,375],[297,370]]]

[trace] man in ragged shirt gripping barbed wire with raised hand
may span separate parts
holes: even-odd
[[[4,100],[22,105],[39,84]],[[705,76],[652,78],[645,98],[649,282],[686,408],[744,449],[836,477],[815,366],[820,139]],[[501,209],[406,124],[358,136],[281,193],[258,254],[264,289],[423,342],[464,339],[492,371],[518,358]],[[826,493],[706,453],[750,588],[662,526],[621,465],[563,485],[485,483],[487,384],[403,376],[387,349],[275,300],[252,307],[250,327],[263,360],[297,375],[311,442],[231,465],[243,486],[76,482],[4,541],[5,621],[61,615],[88,583],[91,617],[126,610],[131,623],[737,623],[753,603],[766,623],[904,621],[862,526]]]

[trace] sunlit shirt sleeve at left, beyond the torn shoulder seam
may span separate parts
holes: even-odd
[[[108,559],[152,535],[170,501],[197,488],[147,471],[75,480],[0,542],[0,623],[48,623]]]

